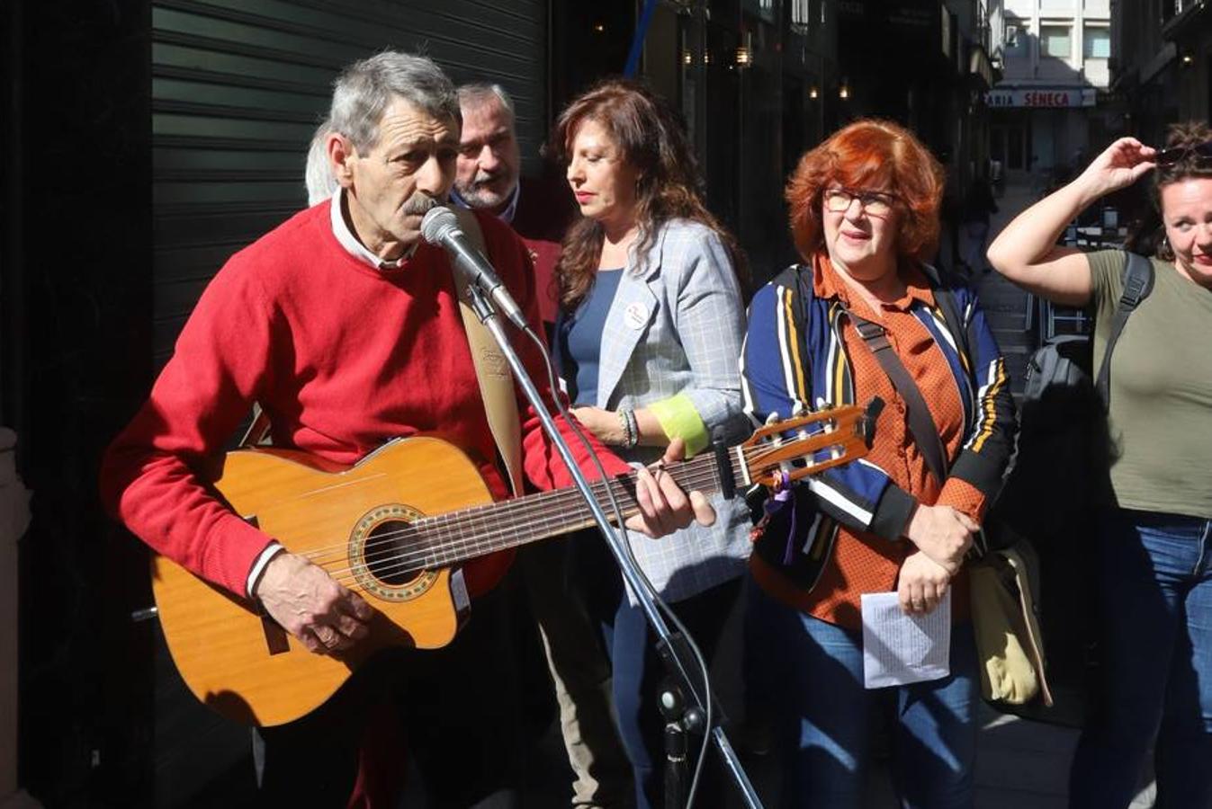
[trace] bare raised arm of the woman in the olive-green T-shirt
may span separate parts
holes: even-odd
[[[1120,138],[1075,180],[1018,214],[989,246],[999,272],[1041,298],[1067,306],[1090,302],[1090,264],[1082,252],[1056,241],[1074,217],[1110,191],[1126,188],[1153,168],[1155,150]]]

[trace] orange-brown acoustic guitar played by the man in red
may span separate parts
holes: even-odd
[[[789,419],[665,469],[684,489],[707,495],[778,488],[867,454],[876,413],[847,406]],[[624,513],[635,513],[634,472],[608,484]],[[599,501],[605,486],[594,484]],[[393,441],[353,466],[298,451],[240,449],[222,460],[215,489],[377,610],[353,649],[313,654],[255,602],[154,556],[156,608],[182,678],[206,705],[257,725],[320,706],[384,647],[448,643],[469,610],[459,562],[593,524],[572,488],[493,503],[471,460],[433,437]]]

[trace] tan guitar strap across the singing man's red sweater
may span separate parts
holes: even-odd
[[[475,214],[467,208],[451,206],[458,217],[463,233],[476,249],[485,253],[484,234]],[[514,497],[522,493],[522,452],[521,421],[518,414],[518,396],[514,392],[514,378],[509,363],[501,348],[480,319],[475,316],[468,303],[469,296],[463,276],[454,274],[454,286],[458,291],[459,314],[467,329],[467,342],[471,349],[471,362],[475,366],[475,378],[480,384],[480,396],[484,400],[484,412],[488,419],[492,440],[509,474],[509,488]],[[255,447],[269,437],[269,417],[259,403],[252,406],[252,423],[240,440],[241,448]]]

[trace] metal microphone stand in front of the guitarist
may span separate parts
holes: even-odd
[[[522,367],[518,352],[514,351],[513,345],[509,343],[509,338],[505,337],[504,328],[501,325],[501,319],[497,315],[496,309],[484,296],[479,285],[474,282],[468,283],[467,288],[471,298],[471,310],[475,312],[475,316],[480,319],[480,322],[484,323],[488,332],[492,333],[497,345],[501,346],[501,351],[505,355],[505,360],[509,362],[509,368],[514,373],[514,379],[516,379],[518,384],[521,385],[522,391],[526,394],[526,398],[538,414],[539,421],[543,423],[543,430],[555,444],[556,451],[560,453],[565,465],[568,467],[568,474],[572,475],[573,483],[581,492],[581,497],[584,498],[585,503],[589,505],[589,511],[594,517],[594,522],[598,523],[598,530],[606,539],[606,546],[610,547],[611,553],[614,556],[614,561],[618,563],[618,568],[623,574],[623,580],[631,589],[631,592],[635,595],[635,599],[639,602],[640,608],[648,619],[648,624],[657,635],[657,650],[661,653],[661,659],[669,670],[669,675],[674,679],[676,687],[676,690],[663,688],[661,694],[662,715],[667,721],[665,752],[670,758],[670,763],[680,767],[680,769],[675,770],[674,774],[667,773],[667,786],[674,787],[674,792],[685,788],[685,734],[687,730],[703,730],[710,736],[716,750],[720,751],[725,770],[732,776],[737,791],[741,792],[741,797],[744,799],[745,805],[750,807],[750,809],[761,809],[761,801],[759,799],[756,791],[754,791],[753,784],[750,784],[744,768],[742,768],[741,759],[737,758],[737,753],[732,748],[732,744],[725,735],[724,728],[720,727],[718,722],[713,722],[714,727],[710,728],[702,727],[707,716],[707,704],[704,700],[708,695],[701,693],[701,688],[696,684],[697,678],[690,676],[692,665],[687,662],[691,658],[685,653],[686,638],[681,633],[670,632],[669,625],[665,624],[664,615],[661,614],[656,602],[653,602],[652,596],[648,593],[647,587],[644,586],[644,581],[641,579],[642,574],[636,569],[631,557],[623,551],[623,538],[616,533],[614,528],[610,524],[610,520],[607,520],[606,513],[594,498],[593,492],[589,488],[589,482],[585,481],[584,475],[581,474],[581,469],[577,466],[577,463],[572,457],[572,451],[568,448],[564,436],[560,435],[559,429],[555,426],[555,421],[548,412],[547,404],[543,402],[542,396],[539,396],[538,389],[534,388],[533,380],[531,380],[526,369]],[[555,396],[558,394],[551,391],[551,395]],[[678,759],[681,761],[679,762]],[[678,803],[671,803],[674,801]],[[667,793],[665,804],[680,807],[681,796]]]

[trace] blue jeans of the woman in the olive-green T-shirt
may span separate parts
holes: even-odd
[[[1099,521],[1100,682],[1073,807],[1126,807],[1156,734],[1160,809],[1212,807],[1212,520],[1119,509]]]

